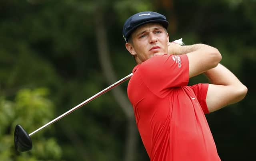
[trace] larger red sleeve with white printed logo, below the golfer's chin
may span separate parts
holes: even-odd
[[[188,84],[188,57],[184,55],[156,55],[140,66],[146,86],[154,94],[164,97],[169,88]]]

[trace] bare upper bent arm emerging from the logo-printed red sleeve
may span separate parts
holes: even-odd
[[[222,59],[218,49],[205,44],[180,46],[170,43],[168,53],[188,56],[189,78],[216,67]]]

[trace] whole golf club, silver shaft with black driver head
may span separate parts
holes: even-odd
[[[85,104],[87,104],[88,102],[94,100],[95,98],[97,98],[98,96],[108,92],[109,90],[111,90],[112,88],[114,88],[115,86],[118,86],[119,84],[121,84],[122,82],[128,80],[130,77],[132,77],[132,73],[130,75],[127,75],[126,77],[120,79],[119,81],[115,82],[114,84],[108,86],[107,88],[105,88],[104,90],[98,92],[97,94],[95,94],[94,96],[91,96],[90,98],[88,98],[87,100],[85,100],[84,102],[78,104],[77,106],[75,106],[74,108],[68,110],[67,112],[65,112],[64,114],[58,116],[57,118],[55,118],[54,120],[48,122],[47,124],[45,124],[44,126],[38,128],[37,130],[35,130],[34,132],[28,134],[20,125],[16,125],[15,130],[14,130],[14,144],[15,144],[15,149],[19,152],[24,152],[24,151],[29,151],[30,149],[32,149],[32,141],[30,136],[35,134],[36,132],[39,132],[40,130],[46,128],[47,126],[49,126],[50,124],[53,124],[54,122],[60,120],[61,118],[67,116],[68,114],[70,114],[71,112],[74,112],[75,110],[77,110],[78,108],[84,106]]]

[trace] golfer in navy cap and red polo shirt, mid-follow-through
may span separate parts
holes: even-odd
[[[127,92],[143,144],[150,161],[220,161],[205,114],[242,100],[247,88],[220,64],[218,49],[170,43],[167,27],[156,12],[134,14],[123,27],[138,64]],[[210,84],[188,86],[202,73]]]

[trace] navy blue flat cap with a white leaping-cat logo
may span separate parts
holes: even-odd
[[[139,12],[132,15],[126,20],[123,27],[123,37],[127,42],[132,32],[139,26],[142,26],[147,23],[156,22],[162,24],[166,29],[169,25],[169,22],[166,20],[166,17],[157,12]]]

